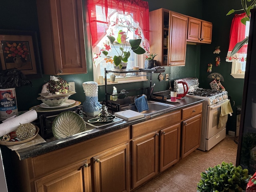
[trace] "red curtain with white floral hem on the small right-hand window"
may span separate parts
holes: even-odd
[[[232,24],[230,28],[230,43],[228,48],[228,54],[226,57],[226,61],[228,62],[233,62],[233,61],[244,62],[245,61],[246,55],[244,54],[247,54],[247,44],[242,46],[242,48],[240,48],[240,50],[238,50],[236,54],[230,56],[236,43],[241,42],[246,38],[245,36],[246,26],[241,22],[241,19],[244,18],[245,16],[246,16],[246,13],[235,14],[232,20]]]

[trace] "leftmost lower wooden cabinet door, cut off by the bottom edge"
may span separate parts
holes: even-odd
[[[37,192],[89,192],[90,160],[64,168],[35,181]]]

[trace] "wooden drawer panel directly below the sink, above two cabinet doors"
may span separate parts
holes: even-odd
[[[155,119],[132,125],[132,138],[147,134],[149,132],[166,128],[180,122],[180,111],[163,115]]]

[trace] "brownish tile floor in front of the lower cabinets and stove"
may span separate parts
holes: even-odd
[[[237,144],[234,137],[227,135],[211,150],[195,150],[134,192],[196,192],[197,183],[201,178],[200,173],[223,161],[235,165],[236,152]]]

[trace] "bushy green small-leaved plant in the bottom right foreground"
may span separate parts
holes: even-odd
[[[248,169],[222,162],[221,165],[209,167],[201,173],[196,189],[197,192],[242,192],[246,190],[251,177]]]

